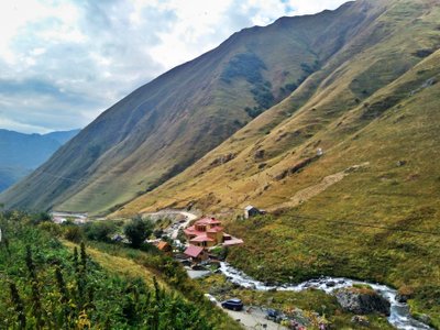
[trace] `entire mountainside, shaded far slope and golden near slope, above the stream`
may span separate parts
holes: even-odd
[[[358,0],[280,18],[142,86],[0,195],[128,218],[199,209],[261,280],[399,289],[440,327],[440,6]],[[244,220],[244,207],[267,211]]]

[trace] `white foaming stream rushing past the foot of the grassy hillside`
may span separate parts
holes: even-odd
[[[388,322],[402,330],[428,330],[432,329],[427,324],[414,319],[409,314],[409,307],[406,304],[398,302],[396,300],[397,292],[386,285],[373,284],[361,280],[353,280],[343,277],[321,277],[318,279],[310,279],[296,285],[282,285],[282,286],[267,286],[264,283],[256,280],[243,272],[235,270],[228,263],[220,264],[220,271],[227,276],[228,280],[240,285],[244,288],[251,288],[255,290],[289,290],[289,292],[301,292],[308,288],[316,288],[332,294],[337,289],[351,287],[353,284],[363,284],[371,286],[377,294],[387,299],[391,304],[391,315]]]

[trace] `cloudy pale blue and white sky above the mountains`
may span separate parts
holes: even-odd
[[[0,1],[0,129],[84,128],[232,33],[345,0]]]

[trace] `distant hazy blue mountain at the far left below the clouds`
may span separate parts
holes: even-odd
[[[78,132],[72,130],[41,135],[0,130],[0,191],[46,162]]]

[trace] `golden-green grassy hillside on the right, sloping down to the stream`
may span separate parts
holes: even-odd
[[[223,216],[245,241],[229,258],[248,273],[387,283],[439,328],[440,9],[387,3],[286,100],[114,216]],[[271,216],[235,220],[249,204]]]

